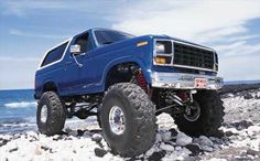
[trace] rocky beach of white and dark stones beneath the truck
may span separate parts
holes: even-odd
[[[0,133],[2,161],[258,161],[260,160],[260,85],[229,85],[220,90],[224,124],[214,137],[181,132],[167,114],[158,116],[156,141],[136,158],[112,154],[96,117],[68,120],[63,135],[46,137],[36,127],[17,124],[18,132]],[[0,125],[4,128],[7,125]]]

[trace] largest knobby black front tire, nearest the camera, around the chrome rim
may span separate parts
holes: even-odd
[[[124,130],[121,133],[115,133],[110,126],[113,107],[119,107],[123,114]],[[100,122],[108,146],[122,157],[141,154],[155,141],[155,106],[136,84],[119,83],[108,89],[100,109]]]

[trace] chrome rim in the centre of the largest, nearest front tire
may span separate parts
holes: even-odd
[[[121,135],[124,131],[124,115],[120,107],[113,106],[109,111],[109,126],[113,133]]]

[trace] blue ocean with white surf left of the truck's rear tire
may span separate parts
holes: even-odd
[[[0,90],[0,133],[36,128],[33,89]]]

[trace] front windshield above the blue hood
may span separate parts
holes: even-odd
[[[112,30],[96,30],[94,31],[94,33],[99,45],[111,44],[118,41],[133,37],[133,35],[131,34]]]

